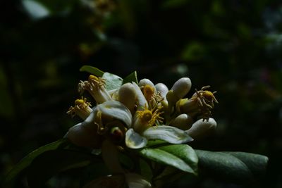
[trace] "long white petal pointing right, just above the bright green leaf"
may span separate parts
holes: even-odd
[[[147,139],[161,139],[171,144],[183,144],[193,140],[185,131],[168,125],[149,127],[142,135]]]

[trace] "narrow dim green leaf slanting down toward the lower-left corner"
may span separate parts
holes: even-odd
[[[20,173],[23,172],[31,163],[32,161],[42,153],[46,151],[51,151],[54,149],[58,149],[59,147],[68,144],[68,139],[59,139],[56,142],[52,142],[50,144],[47,144],[45,146],[39,147],[39,149],[36,149],[35,151],[32,151],[29,153],[25,158],[23,158],[6,176],[6,182],[12,183],[14,180],[16,180],[16,177],[20,175]]]

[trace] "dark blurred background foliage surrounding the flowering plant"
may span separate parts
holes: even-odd
[[[260,186],[282,187],[279,2],[1,1],[1,177],[78,123],[66,111],[87,79],[79,68],[92,65],[121,77],[137,70],[168,87],[183,76],[193,90],[212,85],[218,127],[194,147],[266,155]],[[247,187],[208,176],[177,184]]]

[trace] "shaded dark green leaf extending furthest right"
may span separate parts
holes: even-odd
[[[268,158],[253,153],[212,152],[196,150],[199,168],[209,176],[231,180],[250,181],[254,175],[264,173]]]

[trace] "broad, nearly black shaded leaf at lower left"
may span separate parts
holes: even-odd
[[[30,187],[42,187],[56,173],[72,168],[82,168],[90,163],[102,162],[101,158],[89,153],[56,149],[37,156],[27,169],[27,181]]]

